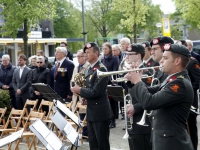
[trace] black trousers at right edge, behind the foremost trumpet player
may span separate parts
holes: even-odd
[[[197,129],[197,115],[196,114],[189,114],[188,117],[188,126],[190,130],[190,137],[192,140],[192,144],[194,149],[197,150],[198,146],[198,129]]]

